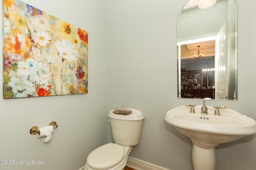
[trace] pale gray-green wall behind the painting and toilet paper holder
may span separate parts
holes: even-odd
[[[45,164],[0,164],[0,169],[78,170],[93,149],[107,143],[104,0],[23,1],[88,31],[88,94],[10,100],[1,97],[0,160],[41,160]],[[0,67],[2,70],[2,64]],[[50,142],[30,135],[32,126],[47,126],[51,121],[59,127],[54,129]]]

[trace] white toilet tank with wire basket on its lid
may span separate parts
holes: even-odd
[[[135,146],[140,143],[144,116],[137,109],[129,109],[132,110],[129,115],[118,115],[111,110],[108,114],[108,119],[114,141],[120,145]]]

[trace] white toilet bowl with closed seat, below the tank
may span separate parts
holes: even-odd
[[[131,150],[117,143],[98,147],[88,155],[84,170],[123,170]]]

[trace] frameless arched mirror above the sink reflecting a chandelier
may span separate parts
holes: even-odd
[[[177,20],[178,98],[237,100],[235,0],[190,0]]]

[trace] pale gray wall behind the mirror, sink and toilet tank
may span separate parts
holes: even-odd
[[[164,121],[166,112],[202,100],[177,99],[176,20],[187,0],[106,1],[108,110],[129,106],[145,115],[130,156],[170,170],[192,170],[191,141]],[[256,119],[254,0],[238,5],[238,101],[207,101]],[[246,56],[244,56],[246,54]],[[250,61],[250,62],[248,62]],[[251,74],[248,74],[251,73]],[[109,130],[109,125],[108,125]],[[112,141],[108,132],[108,141]],[[217,170],[256,167],[254,135],[217,147]]]

